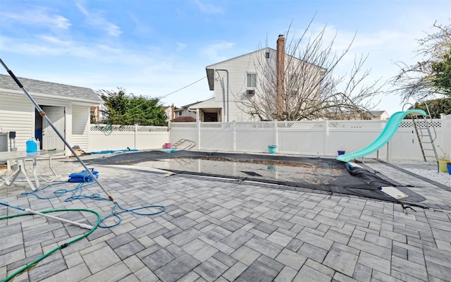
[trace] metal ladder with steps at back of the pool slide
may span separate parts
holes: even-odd
[[[421,148],[421,154],[423,154],[424,161],[427,158],[433,157],[438,162],[438,154],[435,149],[435,138],[437,138],[437,132],[432,122],[431,112],[426,104],[428,111],[426,116],[412,116],[412,125],[418,138],[418,142]]]

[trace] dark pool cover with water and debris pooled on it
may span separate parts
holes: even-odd
[[[390,202],[395,198],[382,192],[395,186],[364,168],[322,157],[295,157],[278,154],[243,154],[155,150],[125,152],[89,159],[87,164],[126,164],[159,168],[173,173],[220,176],[239,180],[283,185],[290,190],[322,190],[330,194],[356,195]]]

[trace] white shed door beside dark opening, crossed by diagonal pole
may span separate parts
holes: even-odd
[[[42,106],[47,118],[56,127],[59,133],[64,135],[64,107],[63,106]],[[42,118],[42,149],[64,149],[64,142],[56,134],[55,130],[47,123],[47,118]]]

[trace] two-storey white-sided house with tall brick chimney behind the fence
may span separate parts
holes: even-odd
[[[299,75],[296,73],[299,72],[296,65],[303,66],[301,71],[318,75],[317,78],[315,75],[311,76],[314,82],[310,82],[310,85],[319,85],[321,75],[326,72],[324,68],[285,54],[285,38],[279,35],[277,49],[266,47],[206,66],[209,89],[214,91],[214,97],[191,104],[189,109],[197,113],[198,121],[259,121],[262,116],[258,113],[250,114],[253,112],[251,109],[255,109],[255,105],[259,107],[259,99],[267,99],[264,98],[264,92],[271,92],[271,87],[277,81],[274,105],[279,113],[286,103],[282,98],[283,94],[292,93],[295,97],[296,92],[303,92],[298,85],[290,86],[284,82],[293,81],[287,79],[289,75]],[[251,104],[254,106],[250,107]]]

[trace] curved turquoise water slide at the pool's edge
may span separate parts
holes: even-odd
[[[337,157],[338,161],[350,161],[351,159],[365,157],[369,154],[372,154],[373,152],[376,152],[378,149],[383,147],[383,145],[387,144],[390,139],[392,139],[393,135],[395,135],[397,129],[400,127],[404,116],[407,116],[408,114],[421,114],[423,116],[426,116],[426,112],[423,110],[397,111],[395,114],[390,116],[387,124],[385,125],[385,128],[383,128],[382,130],[381,135],[379,135],[376,140],[371,142],[370,145],[359,149],[356,152],[349,154],[340,154],[340,156]]]

